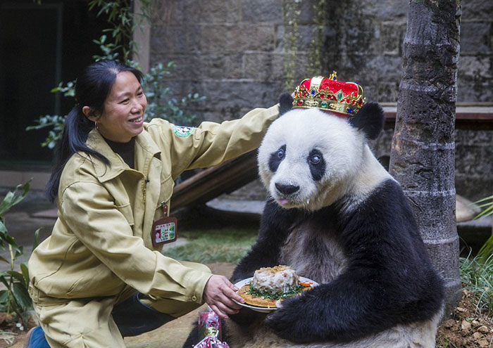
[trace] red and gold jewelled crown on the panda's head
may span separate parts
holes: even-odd
[[[293,108],[318,108],[350,117],[364,103],[363,88],[354,82],[337,81],[337,72],[304,79],[294,90]]]

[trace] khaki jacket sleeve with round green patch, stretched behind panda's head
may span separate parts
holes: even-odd
[[[238,120],[222,123],[202,122],[188,136],[178,136],[173,124],[162,127],[161,134],[148,131],[168,142],[173,179],[187,169],[213,167],[258,148],[269,125],[279,114],[278,105],[256,108]]]

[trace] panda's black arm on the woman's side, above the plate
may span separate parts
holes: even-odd
[[[266,202],[256,243],[233,271],[233,283],[254,276],[261,267],[278,264],[280,247],[295,216],[296,210],[282,209],[273,200]]]

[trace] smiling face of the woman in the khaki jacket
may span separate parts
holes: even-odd
[[[137,77],[130,71],[118,72],[115,84],[104,102],[104,111],[96,118],[102,136],[127,143],[144,129],[147,99]]]

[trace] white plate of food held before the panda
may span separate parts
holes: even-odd
[[[235,283],[238,295],[245,300],[244,303],[235,302],[254,311],[268,313],[280,307],[282,300],[317,285],[316,281],[298,276],[290,266],[262,267],[253,277]]]

